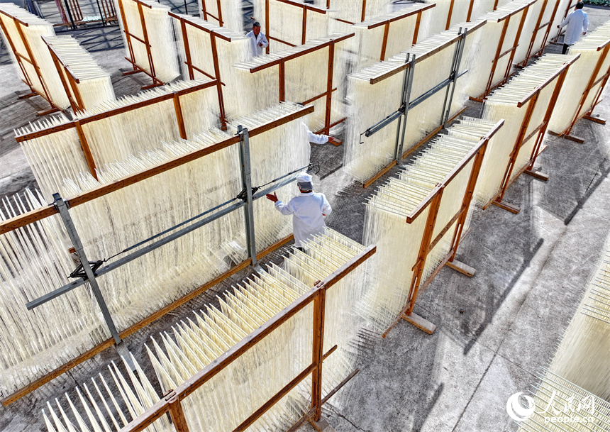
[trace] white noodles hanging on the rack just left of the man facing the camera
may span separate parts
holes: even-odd
[[[237,62],[243,62],[250,57],[250,45],[248,39],[243,34],[232,31],[227,27],[218,27],[213,23],[196,18],[194,16],[179,15],[182,19],[185,19],[196,26],[201,26],[209,29],[218,35],[228,38],[226,40],[221,37],[215,37],[216,41],[216,60],[218,61],[218,72],[220,75],[220,81],[226,84],[222,87],[223,101],[225,115],[227,118],[234,118],[236,116],[245,115],[253,111],[253,106],[245,104],[242,90],[238,84],[235,84],[238,77],[235,75],[239,72],[235,70],[233,64]],[[182,29],[180,28],[180,21],[174,19],[174,28],[176,35],[178,36],[178,47],[180,60],[182,64],[182,76],[184,79],[189,79],[189,67],[187,66],[187,55],[185,51],[185,44],[182,38]],[[211,35],[210,33],[203,31],[199,28],[186,24],[187,29],[187,40],[189,43],[189,53],[191,57],[192,65],[200,70],[204,70],[206,74],[215,77],[214,69],[214,55],[211,48]],[[206,74],[193,70],[195,79],[211,79]]]

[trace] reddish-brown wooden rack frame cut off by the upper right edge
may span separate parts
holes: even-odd
[[[599,55],[599,60],[597,60],[595,68],[591,74],[591,77],[589,78],[589,82],[587,82],[587,87],[584,89],[584,92],[582,92],[582,96],[580,97],[578,108],[576,109],[576,113],[574,115],[574,118],[572,119],[572,123],[570,123],[570,126],[568,126],[565,131],[562,131],[559,134],[549,132],[551,135],[562,136],[569,140],[575,141],[576,143],[582,144],[584,143],[584,138],[572,135],[572,129],[574,128],[574,126],[576,126],[576,123],[578,123],[582,118],[586,118],[587,120],[594,121],[602,125],[606,124],[606,120],[604,120],[604,118],[597,118],[593,116],[593,110],[601,101],[601,93],[604,92],[604,88],[606,87],[606,83],[608,82],[608,78],[610,77],[609,67],[604,72],[604,74],[598,78],[601,66],[604,64],[604,61],[606,60],[606,57],[610,52],[610,40],[606,40],[606,42],[599,45],[599,47],[597,47],[597,50],[601,51],[601,54]],[[591,106],[584,106],[584,104],[587,102],[587,99],[589,98],[589,94],[591,94],[593,88],[599,83],[601,83],[601,85],[599,86],[599,89],[597,89],[597,92],[593,99],[593,104]]]

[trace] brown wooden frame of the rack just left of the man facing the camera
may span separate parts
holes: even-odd
[[[194,18],[187,15],[179,15],[177,13],[170,12],[170,16],[172,18],[180,21],[180,31],[182,33],[182,44],[184,45],[184,64],[187,65],[189,71],[189,79],[195,79],[194,72],[197,71],[201,74],[204,74],[206,77],[214,79],[216,81],[216,90],[218,92],[218,106],[220,108],[220,121],[221,121],[221,129],[226,131],[227,128],[227,118],[225,111],[225,104],[223,98],[223,86],[225,85],[221,79],[221,69],[218,63],[218,49],[216,48],[216,38],[221,40],[225,40],[226,42],[231,42],[231,38],[228,38],[226,35],[218,33],[210,28],[206,28],[204,26],[199,25],[194,21]],[[197,30],[204,31],[209,33],[210,35],[210,50],[212,53],[212,59],[214,60],[214,74],[206,72],[205,70],[193,65],[192,57],[191,57],[191,48],[189,45],[189,35],[187,32],[187,26],[192,26]]]

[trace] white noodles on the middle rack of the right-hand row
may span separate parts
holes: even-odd
[[[509,164],[511,153],[514,151],[523,120],[526,118],[528,111],[529,102],[518,106],[519,102],[536,92],[540,87],[545,86],[538,95],[536,106],[523,135],[523,139],[528,136],[531,136],[531,138],[521,143],[511,177],[507,179],[508,182],[512,182],[521,174],[521,170],[529,165],[532,157],[536,156],[533,155],[533,150],[538,134],[531,134],[543,123],[551,96],[555,91],[555,85],[558,82],[559,75],[557,72],[567,62],[572,61],[574,57],[573,55],[544,55],[536,63],[523,69],[508,84],[494,91],[485,101],[483,118],[490,121],[499,121],[504,118],[505,122],[501,131],[494,135],[494,138],[490,141],[481,168],[481,179],[477,184],[476,192],[479,204],[488,204],[503,186],[506,167]]]

